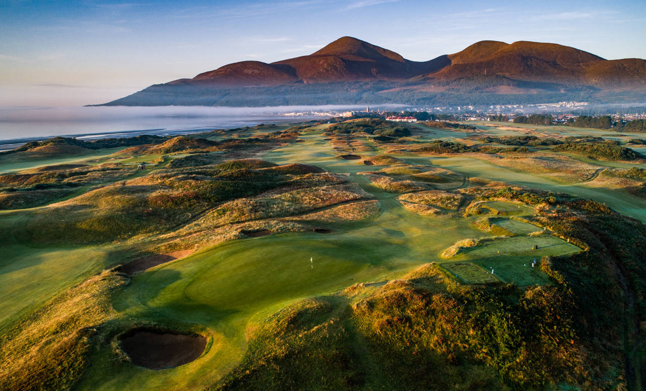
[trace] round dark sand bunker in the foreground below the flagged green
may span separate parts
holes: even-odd
[[[121,339],[121,349],[134,365],[150,369],[174,368],[200,357],[206,347],[202,335],[182,335],[146,330]]]

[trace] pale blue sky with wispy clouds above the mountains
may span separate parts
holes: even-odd
[[[483,39],[646,58],[643,0],[0,0],[0,106],[82,105],[354,36],[425,61]]]

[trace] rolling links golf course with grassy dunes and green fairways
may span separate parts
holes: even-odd
[[[639,134],[453,125],[0,154],[0,389],[641,389]]]

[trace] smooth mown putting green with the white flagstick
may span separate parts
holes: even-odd
[[[355,277],[370,279],[384,273],[380,263],[378,249],[360,238],[258,238],[155,271],[143,282],[139,297],[145,306],[179,311],[184,319],[185,305],[209,307],[211,314],[224,316],[201,316],[194,321],[216,326],[228,313],[255,312],[276,302],[338,290],[353,284]]]

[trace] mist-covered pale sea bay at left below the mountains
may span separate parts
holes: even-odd
[[[325,118],[285,116],[288,112],[347,111],[363,106],[276,106],[276,107],[0,107],[0,143],[52,136],[123,137],[136,134],[181,132],[253,126],[258,123],[287,123]],[[3,148],[3,149],[6,149]]]

